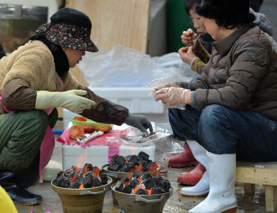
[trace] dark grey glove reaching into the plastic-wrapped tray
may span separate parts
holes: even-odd
[[[129,126],[138,128],[141,132],[148,133],[146,129],[149,128],[150,133],[153,132],[151,123],[144,115],[128,114],[125,118],[125,123]]]

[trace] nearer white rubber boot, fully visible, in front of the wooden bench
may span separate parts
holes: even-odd
[[[210,192],[208,197],[188,213],[234,213],[236,160],[235,154],[217,155],[207,152]]]

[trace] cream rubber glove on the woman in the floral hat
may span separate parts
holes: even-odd
[[[37,91],[36,109],[64,107],[75,113],[82,113],[85,108],[91,108],[95,102],[81,97],[85,90],[69,90],[66,92]]]

